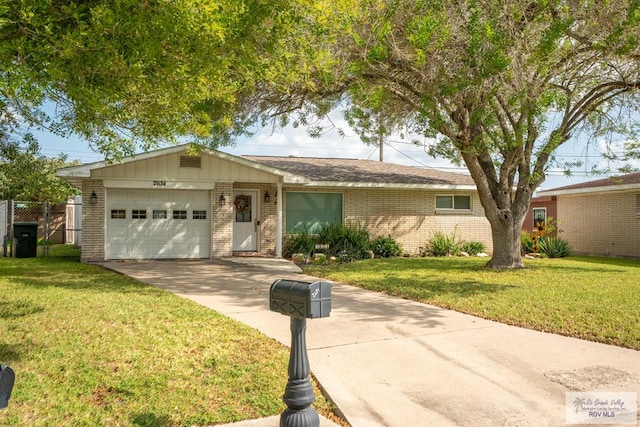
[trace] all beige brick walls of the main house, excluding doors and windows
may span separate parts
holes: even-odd
[[[233,191],[242,188],[258,193],[258,253],[276,254],[277,195],[271,184],[216,183],[211,191],[211,257],[224,258],[233,255]],[[289,187],[286,191],[309,191],[304,187]],[[82,215],[82,261],[98,262],[105,259],[105,189],[101,180],[85,180],[82,186],[83,200],[90,200],[95,191],[98,202],[85,203]],[[464,241],[480,241],[488,252],[492,251],[491,228],[484,216],[477,194],[470,195],[471,212],[443,212],[435,209],[435,196],[443,192],[397,189],[346,189],[316,188],[316,192],[337,192],[343,195],[344,223],[365,227],[372,238],[392,236],[409,254],[417,254],[435,231],[457,231]],[[269,202],[264,194],[269,192]],[[447,193],[447,192],[444,192]],[[220,196],[226,203],[221,206]],[[283,197],[286,203],[286,197]]]

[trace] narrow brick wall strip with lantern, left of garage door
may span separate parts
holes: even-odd
[[[95,191],[98,202],[89,200]],[[104,261],[104,210],[105,191],[102,180],[82,182],[82,262]]]

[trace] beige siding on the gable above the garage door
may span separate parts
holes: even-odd
[[[168,181],[277,182],[269,172],[203,154],[200,168],[180,167],[181,153],[106,166],[91,171],[92,178]]]

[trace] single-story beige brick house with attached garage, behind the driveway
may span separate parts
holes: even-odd
[[[61,169],[78,186],[82,260],[281,256],[300,227],[342,222],[391,235],[409,253],[457,229],[491,251],[467,175],[371,160],[232,156],[185,146]]]

